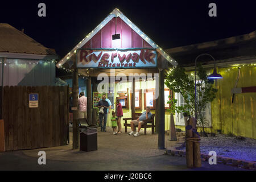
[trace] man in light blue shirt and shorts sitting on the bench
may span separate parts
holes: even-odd
[[[139,136],[139,130],[141,130],[141,126],[144,124],[143,120],[145,119],[151,119],[152,113],[150,113],[150,107],[146,107],[146,111],[141,114],[141,116],[137,120],[131,121],[131,132],[129,135],[133,135],[134,137]],[[138,126],[138,131],[135,133],[134,127]]]

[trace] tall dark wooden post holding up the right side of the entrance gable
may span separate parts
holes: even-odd
[[[157,89],[157,88],[156,88]],[[158,133],[158,148],[164,149],[164,72],[159,68],[159,100],[158,100],[158,108],[159,110],[159,133]]]

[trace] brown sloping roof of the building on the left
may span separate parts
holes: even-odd
[[[0,53],[56,55],[54,49],[44,47],[7,23],[0,23]]]

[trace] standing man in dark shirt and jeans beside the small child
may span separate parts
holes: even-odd
[[[109,102],[106,101],[106,96],[104,95],[102,97],[102,100],[98,102],[97,107],[101,110],[101,107],[103,107],[104,113],[101,113],[99,111],[99,119],[100,119],[100,125],[101,125],[101,131],[106,131],[106,122],[108,119],[108,108],[109,108]],[[102,119],[104,118],[104,125],[102,125]]]

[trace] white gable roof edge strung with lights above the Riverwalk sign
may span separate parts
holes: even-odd
[[[144,34],[133,22],[131,22],[125,15],[122,14],[121,11],[119,11],[117,8],[112,11],[112,13],[109,14],[92,32],[90,32],[84,39],[81,40],[79,44],[77,44],[76,47],[74,47],[67,55],[63,57],[59,61],[59,63],[56,65],[58,68],[60,68],[66,61],[71,58],[76,53],[76,50],[83,47],[85,43],[87,43],[94,35],[97,34],[98,31],[101,30],[102,27],[104,27],[112,18],[119,17],[121,18],[126,24],[128,24],[131,29],[133,29],[135,32],[137,32],[138,35],[140,35],[148,44],[150,44],[151,47],[155,48],[157,52],[160,53],[167,61],[169,61],[174,67],[176,67],[177,62],[172,59],[170,55],[168,55],[162,48],[160,48],[157,44],[155,44],[146,34]]]

